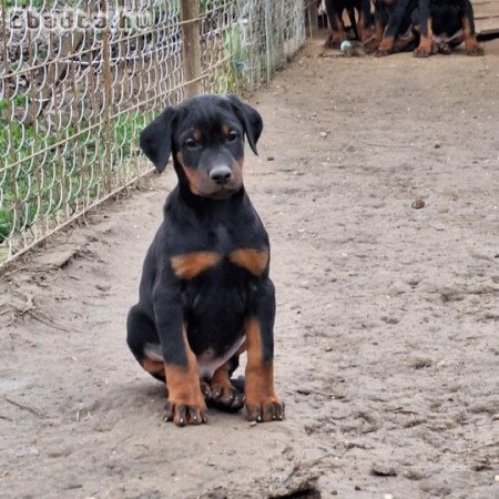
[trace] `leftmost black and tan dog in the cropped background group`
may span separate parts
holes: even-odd
[[[326,45],[338,49],[346,40],[345,23],[343,14],[346,11],[354,30],[355,37],[365,42],[371,34],[370,22],[370,0],[325,0],[327,19],[332,33],[326,40]],[[358,14],[356,20],[355,14]]]

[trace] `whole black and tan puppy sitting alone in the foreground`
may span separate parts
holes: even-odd
[[[208,403],[246,406],[254,421],[282,420],[274,389],[274,285],[269,243],[243,184],[244,138],[256,154],[263,121],[234,95],[200,95],[167,108],[141,134],[161,173],[179,177],[143,265],[128,344],[166,381],[165,420],[206,421]],[[244,394],[231,383],[247,352]]]

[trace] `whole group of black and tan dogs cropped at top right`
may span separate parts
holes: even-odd
[[[469,55],[482,55],[470,0],[323,0],[332,33],[326,45],[339,48],[347,37],[347,13],[354,37],[366,53],[378,57],[414,51],[417,58],[448,54],[465,42]]]

